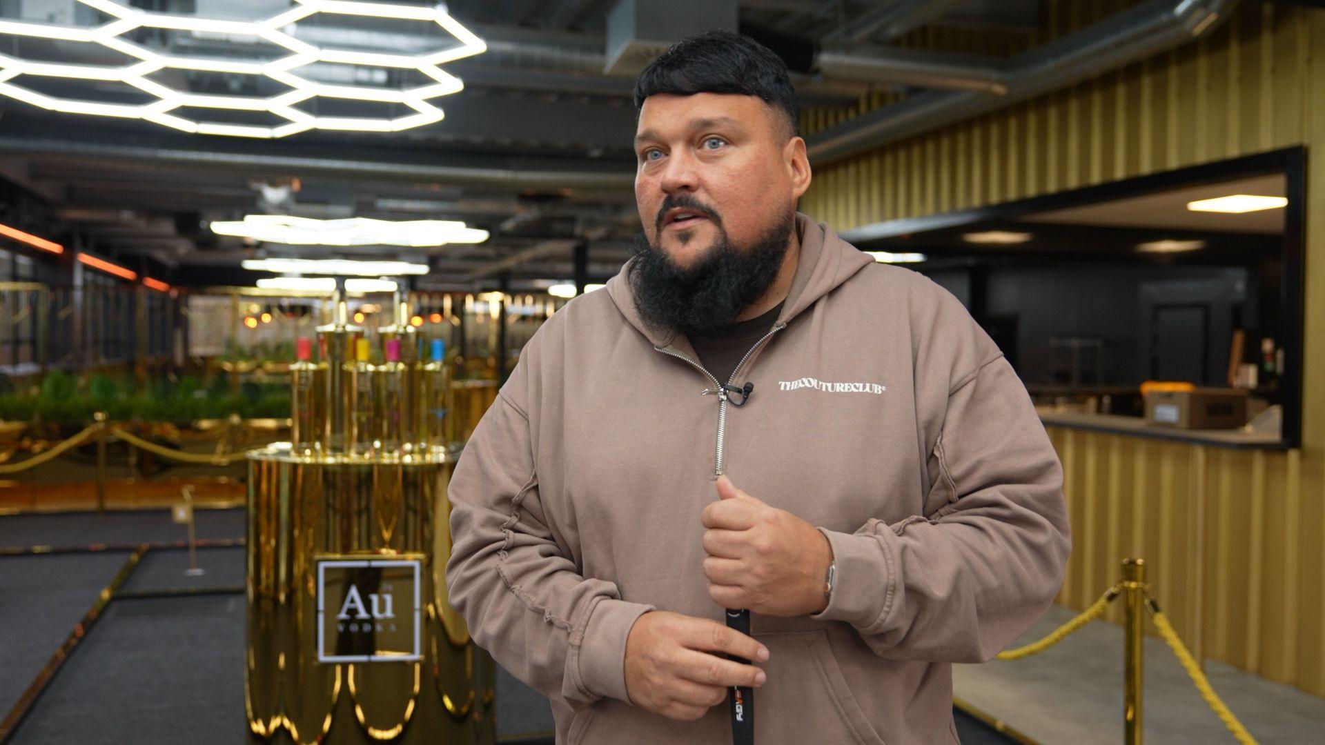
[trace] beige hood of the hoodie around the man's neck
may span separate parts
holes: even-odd
[[[796,236],[800,239],[796,274],[791,281],[787,298],[782,304],[778,323],[787,323],[820,297],[837,289],[856,272],[874,262],[867,253],[837,237],[837,233],[827,225],[815,223],[800,212],[796,212]],[[635,293],[631,290],[629,280],[632,261],[635,260],[627,261],[621,270],[608,280],[607,293],[621,315],[653,346],[668,346],[677,333],[672,329],[649,326],[635,306]]]

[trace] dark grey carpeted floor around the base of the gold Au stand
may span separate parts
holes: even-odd
[[[5,742],[244,742],[244,513],[199,510],[201,577],[166,510],[0,517],[0,718],[122,571],[148,550]],[[42,553],[30,553],[42,546]],[[89,550],[91,549],[91,550]],[[193,589],[209,594],[167,595]],[[162,654],[168,650],[168,654]],[[957,712],[966,745],[1008,742]],[[551,745],[547,700],[498,668],[504,745]]]

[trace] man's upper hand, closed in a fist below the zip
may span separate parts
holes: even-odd
[[[725,608],[774,616],[827,607],[828,538],[787,510],[771,508],[718,477],[718,501],[704,508],[704,574]]]

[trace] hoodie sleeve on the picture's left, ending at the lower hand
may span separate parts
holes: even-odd
[[[527,374],[526,371],[522,371]],[[625,693],[625,639],[652,606],[579,574],[549,528],[521,372],[484,415],[450,480],[447,586],[474,642],[506,671],[579,708]]]

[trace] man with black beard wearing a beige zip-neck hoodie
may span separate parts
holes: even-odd
[[[733,687],[761,745],[957,741],[950,663],[1024,631],[1068,554],[1026,388],[951,294],[795,212],[771,52],[693,37],[635,102],[639,252],[469,440],[452,603],[558,742],[729,742]]]

